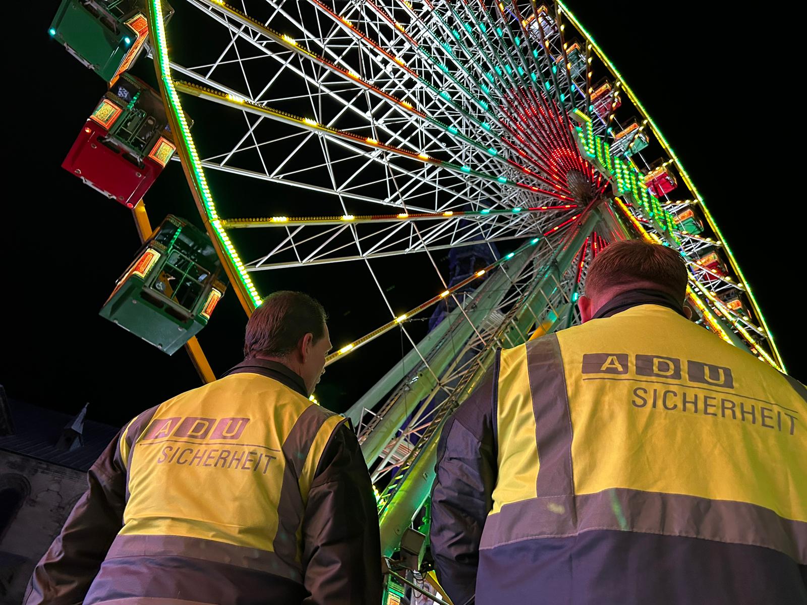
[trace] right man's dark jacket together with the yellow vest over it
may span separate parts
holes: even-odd
[[[807,603],[805,387],[639,294],[500,351],[446,422],[455,605]]]

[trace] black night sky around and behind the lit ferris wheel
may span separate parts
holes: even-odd
[[[569,4],[683,161],[751,283],[789,372],[807,381],[805,330],[798,319],[804,307],[802,196],[796,186],[777,187],[788,182],[781,178],[787,167],[797,166],[785,161],[795,134],[785,125],[795,120],[784,118],[796,108],[784,105],[789,93],[780,84],[786,81],[787,57],[795,55],[780,40],[752,31],[749,22],[727,22],[730,15],[709,3],[652,15],[645,12],[646,2]],[[199,378],[184,351],[169,357],[98,316],[140,240],[131,212],[65,172],[61,161],[106,87],[50,40],[56,2],[15,6],[24,24],[24,53],[6,56],[6,100],[16,105],[6,111],[13,136],[4,153],[0,223],[0,384],[11,398],[69,413],[89,402],[91,419],[123,424],[199,386]],[[137,69],[151,67],[142,56]],[[194,132],[204,130],[204,117],[194,115]],[[262,214],[309,214],[301,197],[273,191],[277,202]],[[169,212],[200,224],[177,163],[146,199],[155,226]],[[424,259],[407,261],[412,265],[374,264],[401,311],[439,291],[433,274],[419,277],[429,272]],[[332,342],[341,346],[366,332],[359,328],[366,326],[366,315],[379,314],[374,325],[388,320],[369,273],[347,265],[353,264],[266,272],[271,278],[261,276],[257,285],[261,294],[295,288],[319,298],[331,318]],[[365,321],[359,323],[358,316]],[[199,337],[215,373],[241,360],[245,321],[230,290]],[[425,323],[413,324],[415,336],[425,333]],[[360,349],[328,369],[317,396],[345,410],[400,359],[403,346],[401,333],[393,331]]]

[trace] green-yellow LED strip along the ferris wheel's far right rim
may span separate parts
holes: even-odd
[[[678,156],[675,155],[675,152],[670,147],[670,144],[667,143],[667,139],[664,138],[663,134],[659,130],[659,127],[650,117],[650,114],[647,113],[644,106],[642,106],[642,103],[639,102],[638,98],[636,97],[636,94],[633,94],[633,90],[631,90],[630,87],[627,85],[627,83],[625,82],[625,78],[622,77],[622,74],[619,73],[619,70],[617,70],[617,68],[613,65],[613,63],[611,63],[611,61],[608,60],[608,57],[605,56],[605,53],[596,44],[594,38],[592,38],[592,35],[589,34],[588,31],[586,31],[586,29],[580,24],[580,22],[575,18],[575,15],[571,14],[571,11],[567,8],[565,4],[563,4],[563,2],[560,2],[560,0],[558,0],[558,5],[562,8],[563,12],[567,15],[568,19],[577,28],[577,30],[580,31],[586,37],[587,42],[592,45],[592,48],[594,48],[594,51],[596,52],[597,56],[600,57],[600,60],[602,60],[603,63],[608,66],[608,69],[610,69],[613,72],[613,74],[617,78],[619,78],[619,81],[621,81],[622,83],[622,90],[625,90],[625,93],[628,94],[628,98],[630,99],[631,102],[633,102],[633,105],[638,107],[639,111],[642,112],[644,118],[650,123],[650,127],[653,128],[654,135],[662,144],[663,148],[667,151],[667,153],[670,154],[672,161],[675,162],[675,167],[679,170],[681,176],[684,177],[684,181],[686,182],[689,189],[692,191],[693,194],[696,195],[698,202],[700,202],[700,207],[704,211],[706,220],[709,221],[709,227],[712,227],[713,231],[717,233],[717,237],[720,238],[721,243],[723,244],[723,249],[729,255],[729,261],[731,262],[732,267],[737,272],[738,277],[740,277],[740,281],[742,282],[743,286],[745,286],[746,294],[748,294],[748,297],[751,298],[751,304],[754,306],[754,311],[756,311],[756,314],[759,315],[759,319],[762,321],[763,330],[767,334],[767,340],[771,345],[771,349],[773,350],[774,355],[776,356],[776,361],[779,362],[779,366],[782,369],[782,371],[786,372],[787,370],[784,367],[784,361],[782,360],[782,357],[779,353],[779,349],[776,348],[776,342],[773,340],[773,335],[771,334],[770,329],[767,327],[765,316],[762,314],[762,311],[759,310],[759,304],[756,302],[754,293],[751,291],[751,286],[748,285],[746,277],[742,274],[742,269],[740,269],[738,262],[734,258],[734,254],[731,252],[731,249],[729,248],[729,244],[725,240],[725,237],[723,237],[720,228],[717,227],[717,223],[713,219],[711,213],[709,212],[709,209],[706,207],[703,198],[700,197],[700,193],[698,193],[696,186],[692,183],[692,179],[689,177],[689,174],[687,173],[686,170],[684,170],[684,166],[681,165],[681,161],[679,161]]]

